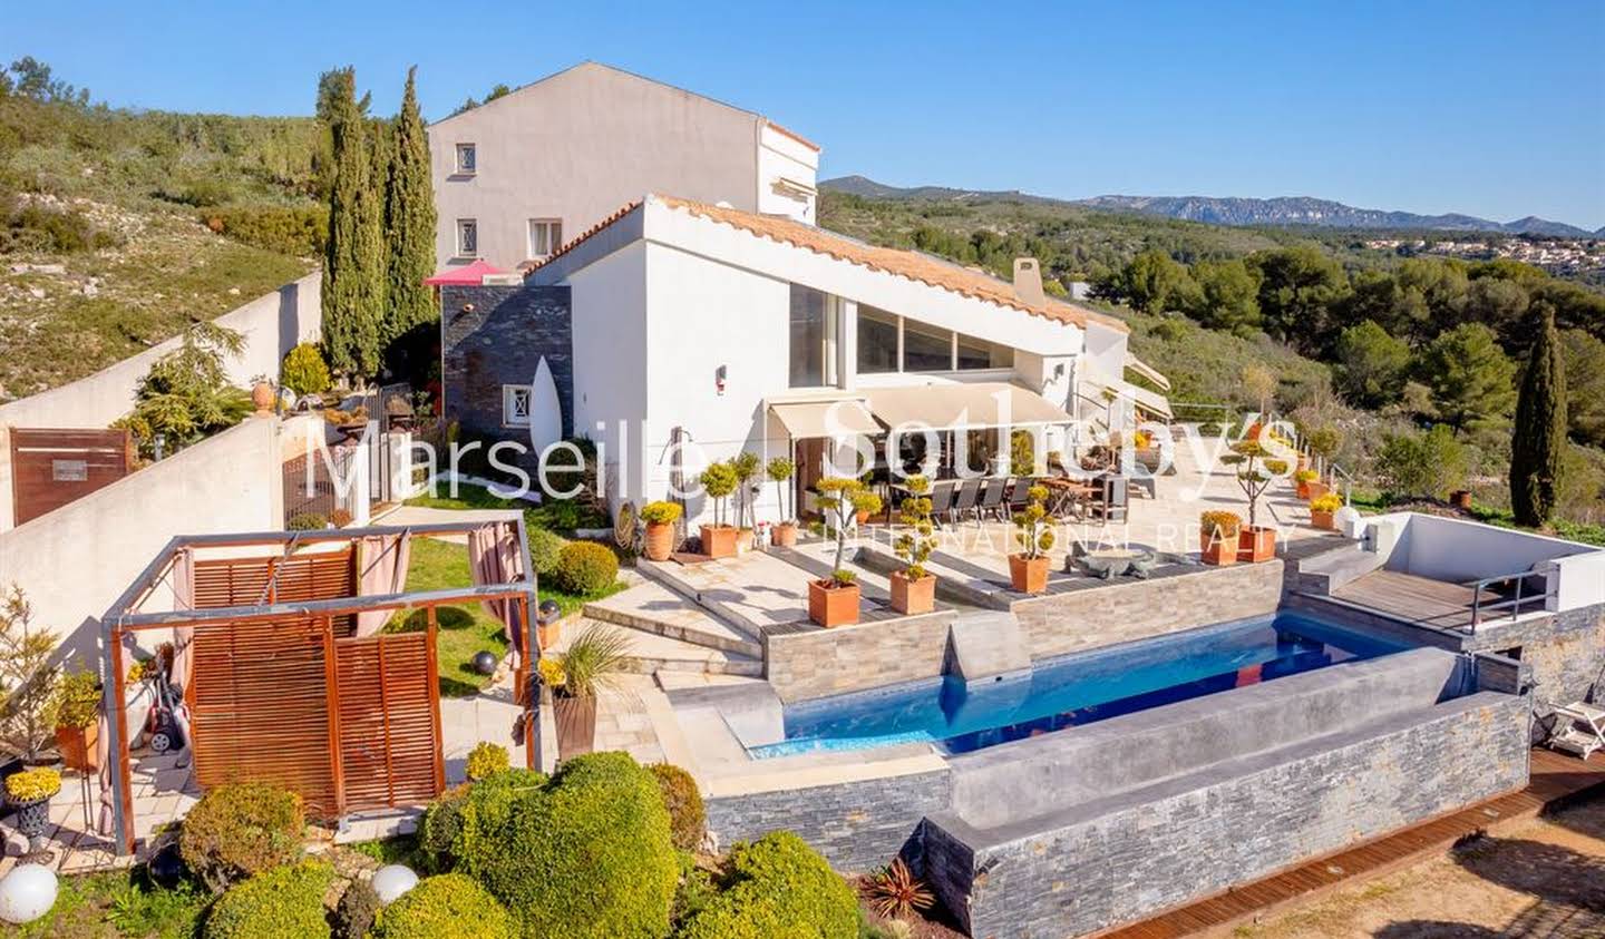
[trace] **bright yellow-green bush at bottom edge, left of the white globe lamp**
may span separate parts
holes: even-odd
[[[207,917],[202,939],[315,939],[329,936],[323,894],[334,868],[319,860],[258,873],[228,889]]]

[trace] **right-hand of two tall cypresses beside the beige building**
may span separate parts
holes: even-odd
[[[417,66],[408,69],[385,186],[387,345],[438,315],[424,286],[435,270],[435,191],[429,180],[429,133],[417,109],[416,75]]]

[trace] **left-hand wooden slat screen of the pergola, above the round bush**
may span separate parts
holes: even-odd
[[[308,812],[337,812],[324,624],[207,623],[194,634],[189,698],[196,782],[271,782]]]

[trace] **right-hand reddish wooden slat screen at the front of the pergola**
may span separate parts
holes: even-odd
[[[335,644],[340,762],[350,812],[419,806],[440,795],[440,737],[429,634]]]

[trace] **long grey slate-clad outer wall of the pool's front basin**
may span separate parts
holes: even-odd
[[[1462,698],[1002,843],[928,820],[920,867],[973,936],[1104,929],[1525,785],[1526,709],[1520,697]]]

